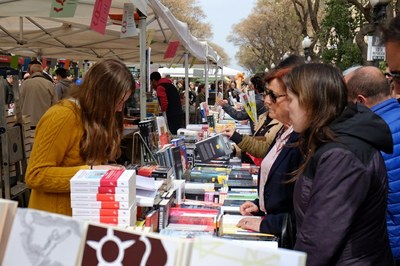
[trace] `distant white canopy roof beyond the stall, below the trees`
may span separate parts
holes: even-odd
[[[215,71],[216,69],[209,69],[208,71],[208,76],[209,77],[214,77],[215,76]],[[176,67],[176,68],[166,68],[162,67],[158,69],[158,72],[160,72],[161,76],[165,75],[170,75],[171,77],[177,77],[177,78],[183,78],[185,77],[185,68],[182,67]],[[233,77],[236,76],[236,74],[242,73],[239,70],[229,68],[229,67],[223,67],[223,74],[224,76],[228,77]],[[221,75],[221,70],[219,70],[218,75]],[[190,68],[189,69],[189,77],[193,78],[204,78],[204,68]]]

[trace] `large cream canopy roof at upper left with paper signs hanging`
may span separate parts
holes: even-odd
[[[120,39],[120,26],[108,23],[105,35],[90,30],[94,0],[80,0],[73,18],[50,18],[49,0],[0,1],[0,52],[25,56],[69,58],[73,60],[119,58],[139,62],[139,38]],[[122,14],[126,0],[113,0],[110,14]],[[154,29],[151,59],[177,63],[185,52],[202,62],[217,58],[193,37],[185,23],[178,21],[159,0],[134,0],[146,6],[147,29]],[[110,20],[109,20],[110,22]],[[174,59],[164,59],[168,42],[179,40]]]

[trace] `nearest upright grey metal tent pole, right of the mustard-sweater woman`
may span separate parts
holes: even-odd
[[[142,12],[139,20],[139,44],[140,44],[140,120],[146,119],[146,84],[149,73],[146,71],[146,17]]]

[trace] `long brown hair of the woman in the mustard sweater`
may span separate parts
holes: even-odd
[[[120,155],[123,113],[116,110],[134,88],[135,80],[125,64],[105,59],[94,64],[82,85],[71,91],[83,125],[80,155],[88,164],[105,163]]]

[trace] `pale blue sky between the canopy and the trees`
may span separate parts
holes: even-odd
[[[243,71],[235,59],[238,48],[228,42],[227,37],[232,32],[232,25],[250,15],[256,0],[197,0],[197,2],[207,15],[205,21],[212,25],[214,36],[211,41],[223,47],[230,57],[228,67]]]

